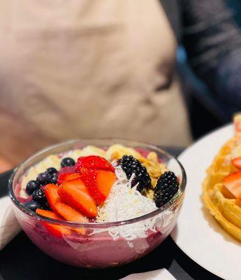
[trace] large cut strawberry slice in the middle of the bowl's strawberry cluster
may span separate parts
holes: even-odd
[[[63,202],[80,211],[88,218],[97,216],[96,203],[89,195],[85,183],[81,179],[62,183],[59,186],[58,194]]]

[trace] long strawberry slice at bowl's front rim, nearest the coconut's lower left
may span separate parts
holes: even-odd
[[[77,223],[88,223],[89,220],[82,216],[80,212],[76,211],[72,207],[62,202],[58,202],[56,204],[56,208],[59,211],[59,214],[63,216],[66,221],[70,222],[77,222]],[[75,232],[79,232],[80,234],[84,235],[85,230],[83,228],[74,228]]]

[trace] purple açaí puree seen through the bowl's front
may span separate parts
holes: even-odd
[[[41,250],[53,258],[70,265],[81,267],[108,267],[131,262],[149,253],[167,237],[175,225],[170,223],[165,232],[149,232],[145,238],[131,241],[119,237],[114,240],[108,232],[94,235],[72,233],[63,237],[54,237],[40,221],[23,221],[20,223],[24,232]]]

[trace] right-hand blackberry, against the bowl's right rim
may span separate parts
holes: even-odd
[[[177,176],[170,171],[163,173],[159,177],[154,189],[154,202],[156,203],[156,207],[162,207],[171,200],[177,193],[178,188]]]

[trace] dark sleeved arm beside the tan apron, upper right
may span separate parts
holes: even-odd
[[[224,0],[180,0],[189,63],[217,99],[241,109],[241,34]]]

